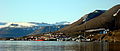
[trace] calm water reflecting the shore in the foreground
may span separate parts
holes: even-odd
[[[117,47],[113,45],[110,47],[106,42],[0,41],[0,51],[113,51]]]

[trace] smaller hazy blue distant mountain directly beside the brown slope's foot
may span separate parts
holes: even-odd
[[[31,23],[37,24],[40,26],[37,30],[35,30],[31,34],[55,32],[71,24],[70,22],[67,22],[67,21],[56,22],[55,24],[35,23],[35,22],[31,22]]]

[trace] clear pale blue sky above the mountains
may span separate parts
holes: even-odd
[[[1,22],[75,22],[94,10],[108,10],[120,0],[0,0]]]

